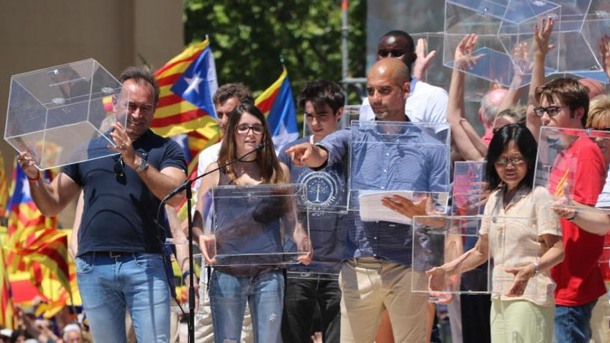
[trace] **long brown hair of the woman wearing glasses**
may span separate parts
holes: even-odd
[[[250,103],[240,103],[229,115],[227,132],[223,139],[223,143],[220,145],[220,152],[218,153],[218,165],[222,166],[239,157],[236,155],[235,126],[239,123],[239,119],[241,119],[241,116],[244,113],[252,114],[252,116],[258,118],[265,127],[265,132],[263,133],[263,143],[265,144],[265,147],[261,151],[256,152],[256,163],[259,164],[259,167],[261,168],[263,184],[284,183],[284,172],[281,170],[279,161],[277,161],[265,115],[258,107]],[[232,166],[225,167],[225,175],[231,180],[237,179],[237,175]]]

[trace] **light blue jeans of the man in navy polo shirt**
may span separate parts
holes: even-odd
[[[160,254],[86,254],[76,258],[76,275],[96,343],[127,342],[125,308],[138,342],[169,341],[170,291]]]

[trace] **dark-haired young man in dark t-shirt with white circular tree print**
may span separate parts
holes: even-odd
[[[308,206],[313,209],[309,218],[309,232],[313,244],[310,265],[288,268],[282,338],[284,342],[311,342],[315,313],[320,313],[324,342],[339,342],[341,291],[338,274],[345,243],[345,215],[337,210],[345,208],[345,169],[342,163],[331,164],[322,170],[295,166],[284,150],[303,142],[317,143],[339,129],[345,94],[334,82],[308,82],[299,94],[299,106],[311,136],[288,143],[281,149],[279,161],[290,168],[293,182],[306,184]]]

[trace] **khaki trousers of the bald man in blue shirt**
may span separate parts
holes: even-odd
[[[371,343],[387,309],[394,342],[425,343],[428,294],[411,292],[411,270],[378,258],[343,263],[341,342]]]

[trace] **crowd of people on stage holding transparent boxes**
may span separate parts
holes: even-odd
[[[488,256],[493,260],[491,295],[441,301],[448,304],[453,342],[608,342],[607,284],[598,261],[610,218],[593,208],[609,206],[609,146],[586,136],[559,140],[562,152],[548,187],[534,187],[541,127],[610,127],[609,96],[592,94],[593,87],[573,78],[546,82],[553,25],[543,19],[534,27],[527,103],[519,105],[522,89],[493,89],[482,99],[482,137],[464,113],[464,70],[481,58],[473,55],[476,35],[464,37],[456,49],[447,93],[424,81],[430,59],[415,53],[410,35],[390,31],[367,73],[359,126],[340,128],[344,91],[335,82],[313,80],[297,98],[311,134],[278,150],[250,90],[240,83],[220,87],[214,105],[224,137],[200,153],[198,171],[208,174],[193,186],[193,234],[211,271],[202,268],[199,275],[195,342],[439,342],[437,304],[426,292],[412,292],[412,247],[419,242],[407,222],[446,214],[433,194],[451,192],[453,161],[487,161],[484,219],[476,245],[426,271],[430,292],[445,290],[447,279],[488,262]],[[610,37],[600,42],[600,54],[610,72]],[[116,155],[65,166],[50,184],[29,152],[18,162],[44,215],[55,216],[80,196],[71,250],[94,342],[127,342],[129,326],[137,342],[177,342],[163,242],[167,234],[186,236],[171,209],[184,193],[168,201],[173,225],[159,228],[155,211],[186,179],[186,159],[177,143],[150,130],[159,98],[153,76],[129,68],[119,80],[130,91],[126,125],[112,126],[113,145],[90,143]],[[448,137],[451,148],[422,148],[442,146]],[[367,221],[358,211],[337,210],[353,200],[350,182],[429,195],[387,193],[378,206],[408,221]],[[310,208],[308,231],[293,206],[250,200],[210,206],[212,189],[274,184],[306,185],[306,198],[297,202]],[[236,213],[231,206],[255,209]],[[267,212],[257,213],[261,208]],[[260,242],[309,253],[291,265],[215,267],[216,247],[229,245],[226,238],[219,242],[223,225],[238,236],[236,252]],[[175,257],[188,283],[187,249],[176,245]],[[132,324],[126,326],[126,317]],[[72,329],[66,326],[64,335]]]

